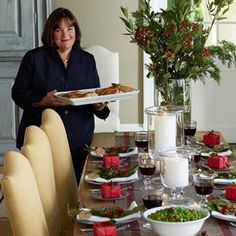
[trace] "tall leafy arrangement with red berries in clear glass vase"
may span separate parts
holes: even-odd
[[[120,17],[131,37],[149,55],[147,77],[154,78],[161,95],[157,105],[185,106],[190,110],[189,86],[191,80],[205,83],[210,77],[220,82],[217,60],[227,66],[236,64],[236,46],[222,40],[209,45],[208,38],[216,21],[225,19],[233,0],[208,0],[211,19],[204,25],[201,0],[173,0],[172,6],[154,12],[150,0],[141,0],[140,8],[129,13],[121,7]]]

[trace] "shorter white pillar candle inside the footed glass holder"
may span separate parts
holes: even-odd
[[[168,187],[182,188],[189,184],[188,159],[173,157],[165,159],[165,184]]]

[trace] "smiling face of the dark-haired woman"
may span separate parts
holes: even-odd
[[[75,27],[70,22],[62,19],[59,28],[54,30],[54,41],[61,52],[72,48],[75,42]]]

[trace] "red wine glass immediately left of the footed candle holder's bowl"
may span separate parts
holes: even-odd
[[[141,175],[144,177],[144,185],[151,183],[151,176],[156,170],[156,160],[152,158],[147,152],[140,152],[138,154],[138,165]]]

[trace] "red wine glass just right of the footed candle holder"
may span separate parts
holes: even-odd
[[[214,188],[214,175],[208,172],[199,172],[193,175],[196,193],[201,197],[199,204],[207,207],[208,196],[212,194]]]

